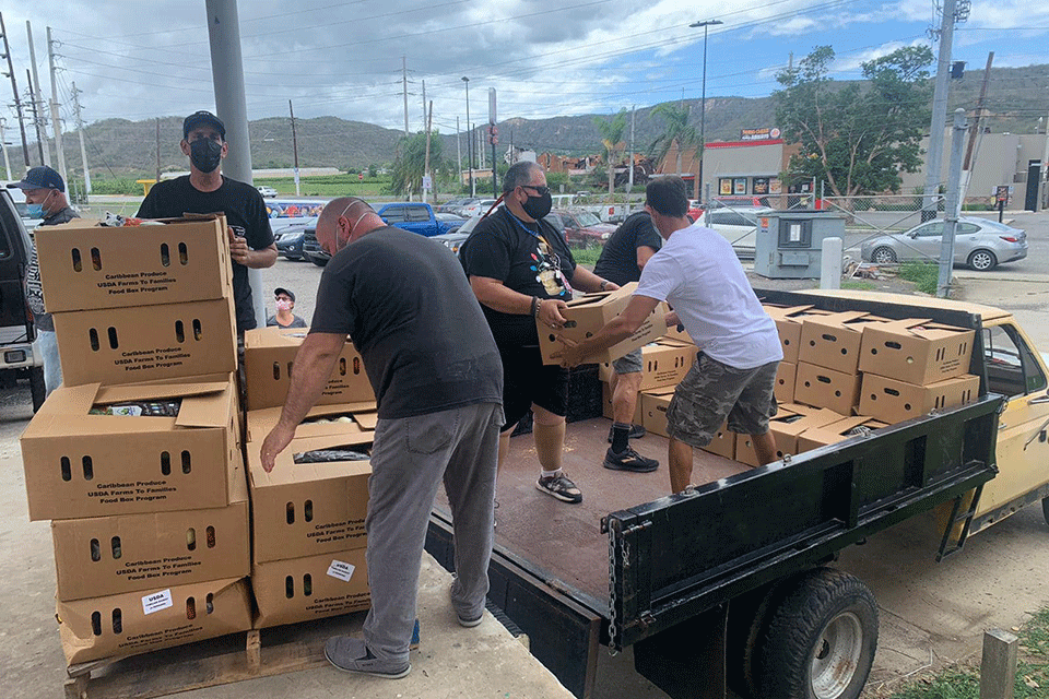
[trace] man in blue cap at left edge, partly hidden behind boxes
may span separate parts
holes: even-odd
[[[62,176],[46,165],[32,168],[22,181],[8,185],[25,192],[25,203],[31,217],[43,216],[42,226],[57,226],[80,218],[66,199],[66,182]],[[33,312],[33,327],[40,353],[44,355],[44,389],[48,395],[62,382],[62,364],[58,356],[58,340],[55,321],[44,306],[44,288],[40,286],[40,262],[33,244],[33,257],[25,269],[25,303]]]

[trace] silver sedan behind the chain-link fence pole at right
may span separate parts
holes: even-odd
[[[864,262],[891,264],[917,260],[935,262],[940,259],[944,221],[938,218],[915,226],[905,233],[894,233],[865,240],[860,246]],[[954,238],[954,263],[965,264],[979,272],[993,270],[999,264],[1027,257],[1027,234],[1005,224],[960,216]]]

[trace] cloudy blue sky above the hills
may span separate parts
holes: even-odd
[[[721,20],[708,39],[707,96],[767,95],[789,56],[829,44],[840,78],[899,46],[929,43],[934,0],[243,0],[239,21],[248,116],[332,115],[403,128],[423,126],[423,85],[435,127],[498,118],[610,114],[702,86],[699,20]],[[8,3],[2,12],[21,91],[31,64],[32,22],[45,94],[46,27],[56,45],[59,100],[72,120],[75,83],[86,122],[186,115],[213,108],[204,0],[67,0]],[[955,34],[955,60],[981,69],[1049,61],[1049,8],[1022,0],[974,0]],[[7,68],[4,67],[4,72]],[[13,123],[10,81],[0,117]],[[1049,108],[1049,95],[1047,95]],[[10,132],[7,140],[12,141]]]

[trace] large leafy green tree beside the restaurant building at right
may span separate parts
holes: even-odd
[[[790,174],[825,180],[837,197],[898,191],[899,173],[921,167],[932,59],[928,47],[907,46],[862,63],[867,84],[841,85],[827,75],[834,49],[818,46],[779,72],[776,118],[801,146]]]

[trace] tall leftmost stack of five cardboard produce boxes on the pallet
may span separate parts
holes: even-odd
[[[51,519],[70,663],[251,626],[233,289],[221,216],[36,234],[64,384],[22,436]]]

